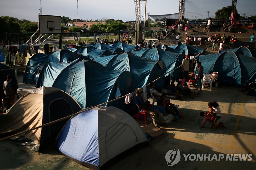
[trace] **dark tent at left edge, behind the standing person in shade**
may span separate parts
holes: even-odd
[[[14,90],[17,90],[19,88],[17,79],[15,77],[15,73],[13,72],[14,70],[2,71],[2,69],[8,69],[8,68],[9,68],[8,66],[0,63],[0,97],[1,97],[1,102],[2,102],[2,98],[5,97],[5,95],[4,95],[4,81],[6,81],[7,76],[9,74],[13,76],[13,79],[11,81],[12,88]]]

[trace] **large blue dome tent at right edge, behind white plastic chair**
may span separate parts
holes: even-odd
[[[256,80],[256,58],[231,51],[201,55],[204,73],[219,72],[218,81],[233,86],[244,86]]]

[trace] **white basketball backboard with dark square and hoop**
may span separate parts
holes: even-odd
[[[38,15],[39,34],[60,34],[61,16]]]

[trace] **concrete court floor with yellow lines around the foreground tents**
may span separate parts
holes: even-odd
[[[22,78],[21,78],[22,79]],[[19,80],[19,79],[18,79]],[[19,80],[20,82],[20,80]],[[19,88],[31,88],[19,84]],[[191,88],[192,91],[193,88]],[[240,88],[222,86],[203,89],[195,99],[172,100],[184,118],[163,127],[165,133],[151,140],[147,146],[116,162],[109,169],[256,169],[256,101],[255,97],[239,92]],[[195,91],[196,92],[196,91]],[[185,101],[185,102],[184,102]],[[200,128],[201,111],[208,111],[207,103],[217,101],[225,128],[210,129],[207,122]],[[139,122],[143,126],[144,121]],[[52,148],[38,155],[12,141],[0,142],[0,169],[88,169]],[[165,154],[179,149],[181,160],[169,167]],[[185,161],[183,154],[252,154],[251,161]]]

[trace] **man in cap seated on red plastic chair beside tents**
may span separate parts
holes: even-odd
[[[142,89],[138,88],[138,89],[135,89],[135,92],[136,92],[136,96],[134,98],[134,103],[135,105],[138,107],[138,111],[139,112],[143,112],[143,108],[145,109],[145,112],[152,116],[152,119],[153,119],[153,124],[155,126],[158,126],[158,125],[162,125],[162,126],[167,126],[165,124],[161,124],[162,123],[162,118],[159,114],[159,111],[158,110],[155,110],[151,107],[148,107],[145,103],[144,103],[144,100],[141,96],[141,94],[143,93]],[[159,124],[157,123],[157,117],[159,119]]]

